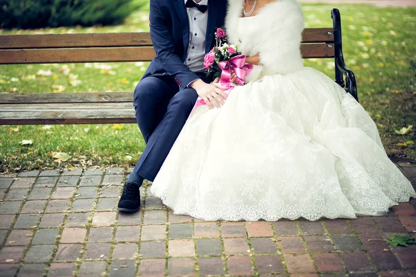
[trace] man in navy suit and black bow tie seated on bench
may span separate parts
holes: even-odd
[[[209,107],[227,98],[202,66],[214,46],[214,31],[224,25],[226,6],[226,0],[150,0],[156,57],[133,100],[146,148],[124,184],[119,211],[139,211],[139,187],[144,179],[155,179],[198,96]]]

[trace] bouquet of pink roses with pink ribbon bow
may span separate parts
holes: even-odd
[[[245,76],[250,74],[253,66],[245,62],[245,55],[239,53],[236,45],[227,44],[227,36],[223,28],[217,28],[214,36],[216,46],[205,55],[204,69],[207,71],[207,77],[220,78],[220,84],[226,87],[224,92],[228,94],[234,88],[231,82],[232,73],[236,74],[235,82],[243,85]],[[198,98],[195,107],[205,104],[204,100]]]

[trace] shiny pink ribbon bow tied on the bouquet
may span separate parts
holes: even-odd
[[[245,55],[238,55],[235,57],[232,57],[228,61],[218,62],[218,66],[220,66],[220,69],[222,70],[221,76],[220,76],[220,84],[223,87],[226,87],[227,89],[224,90],[224,93],[227,95],[234,89],[234,87],[231,85],[231,74],[232,72],[236,73],[236,82],[239,85],[244,84],[244,78],[253,69],[252,64],[248,64],[245,62]],[[205,101],[203,99],[199,99],[196,101],[195,109],[196,107],[200,105],[206,105]]]

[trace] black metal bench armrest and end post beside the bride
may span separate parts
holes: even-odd
[[[354,72],[345,65],[343,55],[343,36],[341,32],[340,11],[334,8],[331,11],[333,21],[333,39],[335,44],[335,82],[350,93],[358,101],[357,83]],[[347,84],[344,83],[344,77]]]

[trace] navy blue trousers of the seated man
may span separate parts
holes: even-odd
[[[195,89],[179,90],[171,76],[143,78],[135,89],[137,124],[146,148],[134,172],[153,181],[195,105]]]

